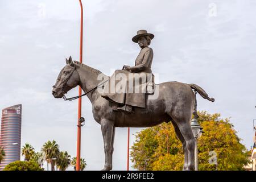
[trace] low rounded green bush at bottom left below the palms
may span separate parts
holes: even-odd
[[[8,164],[3,171],[42,171],[38,163],[17,160]]]

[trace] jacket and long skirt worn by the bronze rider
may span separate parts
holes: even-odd
[[[130,68],[131,71],[114,72],[104,86],[102,97],[118,104],[146,107],[147,83],[152,81],[153,55],[152,48],[141,49],[135,60],[135,66]]]

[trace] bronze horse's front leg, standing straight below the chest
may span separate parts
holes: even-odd
[[[104,152],[105,152],[105,167],[102,171],[109,171],[112,169],[112,137],[113,137],[114,123],[108,119],[101,121],[101,132],[104,140]]]

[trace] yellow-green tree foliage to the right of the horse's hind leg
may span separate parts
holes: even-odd
[[[241,139],[237,137],[237,131],[233,129],[229,119],[217,119],[216,121],[216,118],[212,118],[212,121],[208,119],[200,125],[205,133],[198,141],[199,170],[216,169],[208,162],[210,151],[217,153],[217,170],[243,170],[249,162],[247,150],[241,144]]]

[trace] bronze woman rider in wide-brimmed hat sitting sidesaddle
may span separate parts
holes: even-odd
[[[141,52],[137,56],[137,59],[135,61],[135,66],[130,67],[128,65],[123,66],[123,70],[116,70],[115,73],[110,77],[109,82],[105,85],[104,92],[102,93],[101,97],[104,97],[106,100],[109,100],[110,102],[115,102],[118,105],[121,105],[117,107],[118,111],[122,111],[125,113],[133,113],[133,106],[145,108],[146,107],[146,92],[145,91],[145,85],[147,83],[150,83],[152,76],[151,71],[151,64],[153,60],[153,50],[152,48],[148,47],[151,43],[151,40],[154,38],[153,34],[147,33],[146,30],[139,30],[137,32],[137,35],[133,37],[133,42],[138,43],[139,47],[141,47]],[[119,87],[115,88],[114,93],[109,92],[109,87],[113,88],[116,83],[116,77],[115,75],[119,75],[119,73],[122,73],[127,77],[129,77],[128,82],[125,82],[125,85],[123,88],[129,90],[129,92],[119,92],[121,91]],[[121,74],[121,75],[122,75]],[[146,79],[138,80],[137,76],[143,76]],[[141,93],[138,93],[137,91],[130,92],[130,83],[134,80],[135,89],[139,88],[143,91]],[[140,78],[139,78],[140,79]],[[131,82],[130,82],[131,81]],[[139,84],[138,84],[139,83]],[[118,90],[119,89],[119,90]],[[111,89],[110,89],[111,90]],[[126,90],[126,91],[127,91]],[[115,109],[114,109],[115,110]]]

